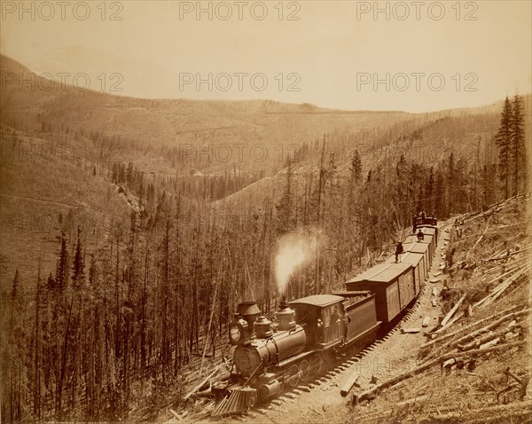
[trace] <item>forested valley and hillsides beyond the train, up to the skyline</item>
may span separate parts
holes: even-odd
[[[27,70],[3,57],[12,72]],[[502,103],[413,115],[72,87],[2,98],[10,420],[149,418],[141,399],[176,395],[201,357],[227,353],[239,301],[270,310],[288,233],[317,248],[285,294],[324,293],[378,261],[420,210],[446,219],[528,191],[526,166],[506,171],[509,193],[497,177]],[[530,122],[529,97],[518,103]],[[249,153],[257,145],[268,160]]]

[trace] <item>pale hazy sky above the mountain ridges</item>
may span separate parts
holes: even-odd
[[[113,67],[143,97],[163,84],[172,98],[421,112],[531,91],[528,0],[0,4],[3,54],[52,74]]]

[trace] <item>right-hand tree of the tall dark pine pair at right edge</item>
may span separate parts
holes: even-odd
[[[510,117],[510,159],[512,161],[513,194],[520,188],[520,180],[526,180],[526,152],[524,114],[522,112],[522,98],[519,94],[513,96],[512,113]],[[523,174],[525,174],[523,176]]]

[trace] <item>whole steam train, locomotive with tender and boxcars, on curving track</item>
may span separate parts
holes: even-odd
[[[419,217],[416,230],[403,241],[399,261],[390,256],[346,281],[343,292],[283,299],[273,322],[255,302],[239,303],[229,326],[229,342],[236,346],[231,377],[212,388],[220,399],[213,415],[246,411],[295,388],[334,357],[364,349],[395,324],[418,297],[437,246],[435,218]]]

